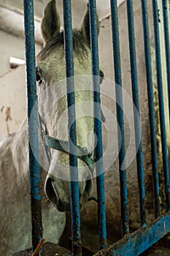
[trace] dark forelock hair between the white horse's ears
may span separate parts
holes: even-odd
[[[83,37],[81,31],[76,29],[72,32],[73,36],[73,50],[77,53],[77,56],[82,58],[82,56],[88,56],[88,52],[90,50],[90,45],[88,44],[87,39]],[[50,39],[45,48],[43,48],[37,56],[37,60],[43,61],[50,54],[52,54],[57,48],[64,44],[63,40],[63,31],[61,31],[57,36]]]

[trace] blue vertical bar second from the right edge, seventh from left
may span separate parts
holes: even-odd
[[[162,83],[162,71],[161,71],[161,49],[160,49],[159,26],[158,26],[157,0],[152,0],[152,12],[153,12],[153,23],[154,23],[154,33],[155,33],[155,59],[156,59],[159,112],[160,112],[160,123],[161,123],[161,142],[162,142],[162,155],[163,155],[163,175],[164,175],[165,195],[166,195],[166,211],[169,211],[169,161],[168,161],[167,147],[166,147],[166,128],[165,128],[165,117],[164,117],[164,106],[163,106],[163,83]]]

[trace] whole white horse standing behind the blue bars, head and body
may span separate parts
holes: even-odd
[[[51,137],[68,140],[66,121],[66,83],[57,87],[58,80],[66,76],[63,32],[60,32],[60,18],[52,0],[45,7],[42,19],[42,35],[45,47],[37,57],[36,78],[39,95],[39,115],[46,133]],[[88,12],[82,22],[80,31],[73,31],[74,47],[74,75],[77,145],[85,147],[90,152],[93,140],[87,140],[87,134],[93,132],[93,118],[89,116],[89,109],[93,106],[92,84],[90,90],[85,90],[89,80],[80,75],[91,74],[90,59],[90,32]],[[79,82],[77,84],[77,81]],[[56,84],[56,86],[51,86]],[[53,90],[54,88],[54,90]],[[58,88],[58,89],[57,89]],[[84,89],[84,91],[80,91]],[[59,96],[58,96],[59,95]],[[88,110],[80,102],[91,102]],[[49,107],[50,105],[50,107]],[[50,109],[49,109],[50,108]],[[93,110],[90,110],[93,114]],[[31,213],[29,197],[29,170],[28,170],[28,135],[27,122],[24,121],[20,130],[4,140],[0,148],[0,255],[9,256],[12,253],[31,246]],[[40,158],[45,159],[44,151],[40,146]],[[70,208],[70,183],[60,176],[68,176],[69,154],[50,149],[49,173],[42,170],[42,184],[45,183],[45,193],[49,200],[42,195],[42,223],[43,236],[46,241],[58,243],[65,227],[66,215]],[[93,180],[85,162],[78,159],[79,176],[82,180],[80,187],[80,208],[85,205],[93,191]],[[43,166],[45,167],[45,166]],[[59,173],[59,174],[58,174]],[[46,177],[47,176],[47,177]],[[46,181],[45,181],[46,178]],[[43,192],[42,192],[43,193]],[[55,207],[52,206],[53,203]],[[56,209],[57,208],[57,209]]]

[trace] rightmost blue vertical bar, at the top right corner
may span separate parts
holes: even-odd
[[[169,110],[170,110],[170,46],[169,46],[169,14],[168,14],[168,1],[162,0],[163,7],[163,27],[165,36],[165,46],[166,46],[166,75],[167,75],[167,85],[169,91]]]

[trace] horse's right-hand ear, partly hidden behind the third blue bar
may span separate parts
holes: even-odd
[[[98,15],[97,15],[97,30],[98,34],[100,31],[100,26],[99,26],[99,20],[98,20]],[[89,18],[89,7],[87,12],[85,13],[85,16],[82,20],[82,29],[81,29],[83,37],[88,39],[88,43],[90,44],[90,18]]]

